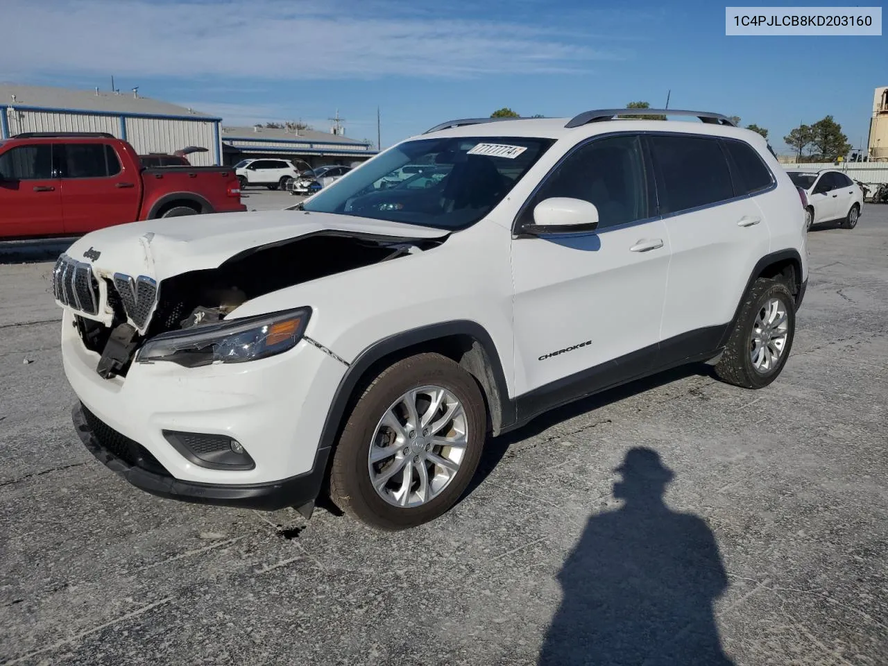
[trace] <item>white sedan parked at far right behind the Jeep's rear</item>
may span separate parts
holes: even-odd
[[[842,221],[845,229],[853,229],[860,219],[863,190],[841,171],[788,170],[789,178],[808,195],[805,226],[810,229],[821,222]]]

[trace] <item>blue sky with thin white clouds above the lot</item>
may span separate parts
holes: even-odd
[[[809,4],[810,6],[811,4]],[[574,115],[644,99],[781,138],[833,115],[866,142],[888,37],[725,36],[725,5],[574,0],[31,0],[4,8],[0,76],[110,87],[221,115],[302,119],[383,146],[511,107]],[[49,37],[52,35],[52,37]]]

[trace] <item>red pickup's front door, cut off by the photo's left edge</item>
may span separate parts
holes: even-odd
[[[0,154],[0,238],[63,233],[52,145],[19,145]]]

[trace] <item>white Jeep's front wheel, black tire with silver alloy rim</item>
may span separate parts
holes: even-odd
[[[441,422],[447,416],[434,416],[423,432],[419,428],[411,432],[411,419],[402,418],[407,416],[404,409],[406,402],[400,400],[416,389],[420,389],[420,397],[413,404],[420,419],[432,413],[441,415],[444,413],[441,410],[449,412],[454,404],[463,409],[461,412],[456,409],[451,420],[443,424]],[[433,394],[424,393],[432,389],[449,396],[441,402],[437,411],[430,406]],[[424,411],[426,406],[429,408]],[[398,437],[395,430],[383,422],[384,416],[392,415],[399,422],[406,421],[399,425],[401,434],[398,441],[395,441]],[[456,433],[449,435],[450,440],[454,441],[460,439],[458,430],[461,427],[464,445],[442,448],[427,441],[423,447],[422,435],[425,432],[429,432],[431,440],[438,439],[432,436],[435,424],[440,428],[437,431],[439,437],[444,432]],[[416,437],[411,439],[411,434]],[[474,377],[454,361],[437,353],[421,353],[398,361],[370,383],[345,422],[330,469],[330,498],[342,511],[372,527],[385,530],[416,527],[438,518],[462,496],[478,468],[486,436],[487,410]],[[389,450],[395,453],[385,456],[385,452]],[[429,453],[424,453],[424,450]],[[369,456],[373,451],[382,455],[377,463],[370,462]],[[451,466],[456,464],[456,471],[445,473],[445,467],[435,464],[431,456]],[[454,463],[448,456],[457,456],[459,459]],[[415,462],[417,459],[418,463]],[[420,467],[426,470],[424,485],[420,480]],[[395,468],[399,471],[392,475]],[[408,468],[409,477],[405,478]],[[386,477],[386,472],[390,472],[389,480],[384,480],[382,489],[377,491],[371,480],[371,473],[376,476],[378,485]],[[440,485],[437,490],[433,489],[435,483]],[[401,498],[398,499],[397,489],[403,490],[405,486],[407,491],[401,492]],[[431,488],[428,498],[424,500],[420,496],[423,488]],[[404,498],[416,504],[397,505],[405,503]]]

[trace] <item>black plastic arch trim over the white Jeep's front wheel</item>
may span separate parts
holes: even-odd
[[[503,363],[497,353],[493,338],[490,337],[487,329],[476,321],[444,321],[385,337],[373,345],[369,345],[359,353],[349,364],[345,376],[339,381],[336,393],[333,396],[333,400],[330,403],[327,412],[327,418],[324,421],[324,427],[321,432],[321,440],[318,443],[318,447],[333,447],[343,424],[345,409],[348,407],[349,401],[353,399],[353,394],[358,387],[361,378],[366,375],[367,371],[375,363],[392,353],[398,353],[409,347],[454,336],[466,336],[472,338],[480,345],[481,349],[487,356],[486,361],[489,373],[492,375],[493,383],[490,386],[484,386],[485,382],[482,381],[482,392],[486,394],[488,401],[497,400],[499,409],[502,412],[499,424],[494,424],[495,432],[512,424],[515,420],[515,405],[514,401],[509,397],[508,388],[505,383],[505,375],[503,373]],[[477,378],[478,377],[476,377],[476,379]],[[491,395],[491,391],[496,391],[496,395]]]

